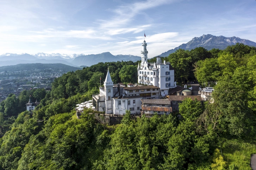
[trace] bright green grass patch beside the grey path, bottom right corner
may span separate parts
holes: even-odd
[[[236,169],[251,170],[251,154],[256,154],[256,145],[239,140],[225,140],[221,146],[224,160]]]

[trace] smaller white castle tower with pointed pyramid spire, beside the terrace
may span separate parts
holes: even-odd
[[[109,70],[107,70],[107,76],[104,81],[104,90],[105,90],[105,113],[112,113],[112,97],[113,97],[113,81],[111,79]]]

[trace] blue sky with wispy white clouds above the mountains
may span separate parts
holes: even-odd
[[[154,57],[203,34],[256,42],[255,0],[0,0],[0,54]]]

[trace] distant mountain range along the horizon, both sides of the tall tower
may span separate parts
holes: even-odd
[[[227,46],[235,45],[236,43],[243,43],[248,46],[255,46],[256,43],[250,40],[241,39],[239,37],[225,37],[214,36],[211,34],[195,37],[191,41],[180,45],[174,49],[168,50],[158,56],[166,57],[171,53],[174,53],[177,49],[191,50],[196,47],[204,47],[207,50],[213,48],[225,49]],[[8,56],[8,57],[6,57]],[[10,66],[20,63],[62,63],[69,66],[91,66],[98,62],[112,62],[112,61],[133,61],[141,60],[141,57],[134,55],[112,55],[110,52],[101,54],[60,54],[60,53],[37,53],[37,54],[12,54],[6,53],[0,55],[0,66]]]

